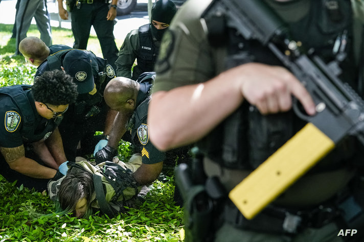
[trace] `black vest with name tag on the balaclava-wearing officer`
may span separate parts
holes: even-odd
[[[146,71],[153,71],[158,56],[158,49],[154,46],[150,23],[138,29],[139,53],[137,57],[138,65],[133,68],[133,80],[137,80],[139,75]]]

